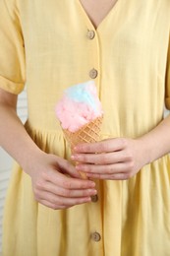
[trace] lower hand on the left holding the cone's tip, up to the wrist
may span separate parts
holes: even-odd
[[[65,209],[90,202],[95,183],[83,180],[69,161],[54,155],[38,154],[28,169],[36,201],[52,209]]]

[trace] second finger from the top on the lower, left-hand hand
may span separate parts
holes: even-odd
[[[62,187],[58,187],[50,182],[46,182],[44,191],[67,198],[90,197],[96,195],[97,193],[96,189],[69,190]]]

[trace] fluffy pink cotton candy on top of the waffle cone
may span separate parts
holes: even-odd
[[[80,89],[82,84],[77,86]],[[64,94],[61,100],[56,105],[56,115],[61,122],[63,129],[68,129],[71,132],[76,132],[82,128],[86,123],[102,115],[101,103],[98,99],[96,88],[93,82],[84,83],[83,99],[73,99],[69,94]],[[84,100],[85,90],[92,98],[92,106]],[[75,91],[74,91],[75,94]]]

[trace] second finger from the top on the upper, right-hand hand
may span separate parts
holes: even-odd
[[[131,160],[131,156],[127,155],[125,151],[119,151],[106,154],[76,154],[72,156],[72,160],[94,164],[110,164],[129,161]]]

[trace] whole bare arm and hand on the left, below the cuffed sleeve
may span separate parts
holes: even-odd
[[[69,161],[37,148],[17,116],[16,104],[17,96],[0,89],[0,145],[30,176],[35,200],[52,209],[90,202],[95,183],[81,179]]]

